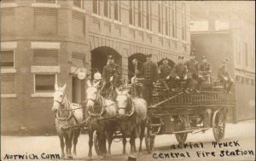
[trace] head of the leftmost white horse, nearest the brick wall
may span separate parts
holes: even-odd
[[[64,108],[67,103],[66,87],[67,83],[65,83],[63,87],[59,87],[58,84],[55,84],[54,104],[51,109],[55,113]]]

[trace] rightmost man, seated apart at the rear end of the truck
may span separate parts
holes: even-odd
[[[221,66],[218,67],[218,78],[220,82],[224,83],[224,91],[231,94],[230,89],[234,83],[234,80],[230,77],[230,73],[227,70],[226,65],[228,62],[229,60],[225,59],[222,61]]]

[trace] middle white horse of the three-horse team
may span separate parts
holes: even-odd
[[[113,141],[114,128],[112,122],[102,120],[101,124],[99,124],[98,118],[116,116],[116,105],[115,102],[106,100],[102,97],[100,94],[101,90],[98,89],[99,83],[100,82],[91,84],[89,80],[87,81],[86,109],[89,114],[89,118],[86,118],[86,124],[89,134],[89,157],[92,156],[91,147],[93,146],[93,135],[95,135],[94,139],[99,141],[97,142],[98,145],[95,145],[96,153],[98,155],[105,155],[107,153],[106,135],[108,138],[108,153],[110,153],[110,147]]]

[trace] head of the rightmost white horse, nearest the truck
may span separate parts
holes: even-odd
[[[117,93],[116,103],[119,116],[127,116],[126,113],[128,111],[131,111],[130,113],[132,113],[134,110],[132,110],[132,100],[131,96],[128,94],[129,90],[125,89],[123,91],[119,91],[119,89],[115,89],[115,91]]]

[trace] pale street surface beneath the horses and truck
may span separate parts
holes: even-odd
[[[148,154],[145,150],[145,145],[143,141],[143,153],[137,154],[138,161],[142,160],[255,160],[255,120],[240,122],[239,124],[227,124],[226,133],[224,136],[224,141],[222,142],[231,142],[230,146],[232,147],[216,147],[212,146],[212,141],[214,141],[212,135],[212,129],[208,130],[205,134],[195,134],[188,135],[187,143],[191,142],[191,146],[187,148],[177,148],[171,149],[171,145],[177,146],[177,141],[174,135],[159,135],[155,140],[155,150],[154,155]],[[235,143],[234,143],[235,141]],[[203,148],[201,147],[203,144]],[[196,147],[195,144],[199,145]],[[138,145],[138,139],[137,139]],[[84,160],[89,159],[87,157],[88,153],[88,135],[80,135],[78,143],[78,159]],[[129,143],[126,144],[127,152],[130,150]],[[243,151],[244,155],[239,156],[226,156],[231,154],[236,154],[236,149]],[[229,150],[225,156],[220,157],[221,151]],[[253,155],[249,154],[249,151],[253,151]],[[231,152],[235,151],[235,152]],[[247,155],[246,152],[247,151]],[[112,153],[113,155],[108,158],[98,158],[93,149],[93,158],[91,160],[126,160],[126,156],[120,155],[122,152],[122,143],[113,142]],[[173,157],[171,156],[171,153]],[[197,157],[196,152],[199,153],[200,157]],[[203,154],[208,157],[203,157]],[[212,153],[213,152],[213,153]],[[231,153],[230,153],[231,152]],[[61,154],[61,147],[57,136],[27,136],[27,137],[16,137],[16,136],[1,136],[1,159],[3,160],[7,154],[34,154],[37,155],[39,159],[43,154],[44,157],[47,154]],[[169,153],[170,158],[160,158],[163,156],[167,157],[167,154],[160,153]],[[178,157],[176,157],[179,153]],[[183,153],[185,158],[180,157]],[[188,157],[188,153],[189,156]],[[215,157],[212,156],[215,154]],[[241,153],[240,153],[241,154]],[[13,159],[9,159],[13,160]]]

